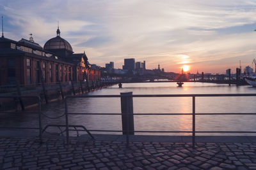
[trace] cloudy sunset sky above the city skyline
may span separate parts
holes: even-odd
[[[75,53],[105,66],[124,58],[146,60],[147,69],[235,73],[256,59],[256,1],[60,1],[0,0],[4,36],[19,41],[33,34],[36,43],[61,37]]]

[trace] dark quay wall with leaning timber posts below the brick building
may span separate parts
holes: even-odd
[[[68,81],[58,83],[40,83],[38,85],[16,85],[0,86],[0,110],[26,110],[36,104],[32,98],[22,98],[16,100],[13,96],[39,96],[42,104],[50,103],[56,100],[63,100],[67,96],[76,96],[92,92],[94,90],[116,85],[118,81],[100,80],[100,81]]]

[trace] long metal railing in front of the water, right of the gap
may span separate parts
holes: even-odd
[[[192,98],[192,112],[191,113],[130,113],[132,115],[191,115],[192,116],[192,131],[134,131],[134,132],[167,132],[167,133],[191,133],[192,134],[192,145],[195,148],[195,136],[196,133],[256,133],[256,131],[196,131],[196,115],[256,115],[256,113],[196,113],[196,97],[241,97],[241,96],[256,96],[256,94],[158,94],[158,95],[128,95],[125,97],[191,97]],[[65,99],[65,118],[66,118],[66,131],[67,133],[67,143],[69,143],[69,124],[68,124],[68,115],[122,115],[124,113],[72,113],[68,111],[68,99],[72,98],[102,98],[102,97],[117,97],[120,98],[120,95],[102,95],[102,96],[67,96]],[[129,115],[129,114],[126,114]],[[86,129],[89,132],[126,132],[126,141],[127,146],[129,146],[129,118],[127,118],[126,129],[122,131],[108,131],[103,129],[90,130]],[[84,130],[79,130],[84,131]]]

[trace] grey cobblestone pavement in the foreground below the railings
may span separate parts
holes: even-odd
[[[256,143],[142,143],[1,138],[1,169],[256,169]]]

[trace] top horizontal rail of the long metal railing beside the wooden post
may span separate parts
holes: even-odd
[[[232,97],[232,96],[256,96],[256,94],[135,94],[125,97]],[[120,95],[88,95],[88,96],[67,96],[68,98],[89,98],[89,97],[121,97]]]

